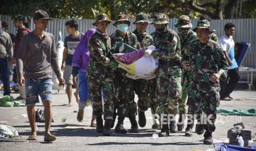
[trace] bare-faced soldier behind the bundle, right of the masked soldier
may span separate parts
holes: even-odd
[[[136,29],[133,33],[137,36],[137,49],[146,49],[153,43],[153,38],[150,34],[146,33],[146,27],[151,22],[148,15],[140,13],[136,16],[136,20],[133,22]],[[156,95],[156,78],[153,79],[138,79],[135,80],[135,93],[138,95],[138,114],[139,114],[139,126],[144,127],[146,125],[145,111],[151,107],[151,113],[153,117],[157,115],[157,95]],[[154,119],[154,118],[153,118]],[[153,129],[159,129],[159,121],[153,121]]]

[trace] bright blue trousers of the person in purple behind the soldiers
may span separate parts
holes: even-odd
[[[88,98],[88,80],[86,77],[86,72],[78,72],[78,89],[79,89],[79,108],[84,109]]]

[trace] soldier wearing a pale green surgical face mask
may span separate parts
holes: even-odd
[[[130,21],[125,14],[117,16],[113,24],[118,30],[111,35],[111,46],[114,47],[116,43],[126,43],[136,48],[137,37],[134,33],[128,31]],[[119,53],[119,52],[113,52]],[[121,68],[115,69],[115,96],[117,98],[117,114],[118,121],[115,127],[117,133],[127,133],[123,127],[123,120],[128,117],[132,125],[130,132],[138,132],[138,123],[136,121],[137,104],[134,101],[134,80],[126,77],[126,71]]]

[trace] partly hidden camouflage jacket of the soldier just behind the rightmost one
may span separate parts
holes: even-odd
[[[189,42],[191,42],[192,40],[197,39],[197,33],[195,33],[192,30],[190,30],[188,36],[186,36],[185,38],[183,38],[182,36],[179,36],[179,38],[181,38],[181,55],[182,55],[182,60],[188,60]]]

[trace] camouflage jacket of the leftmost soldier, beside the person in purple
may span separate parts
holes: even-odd
[[[90,64],[88,73],[107,72],[110,67],[110,37],[96,31],[89,40]]]

